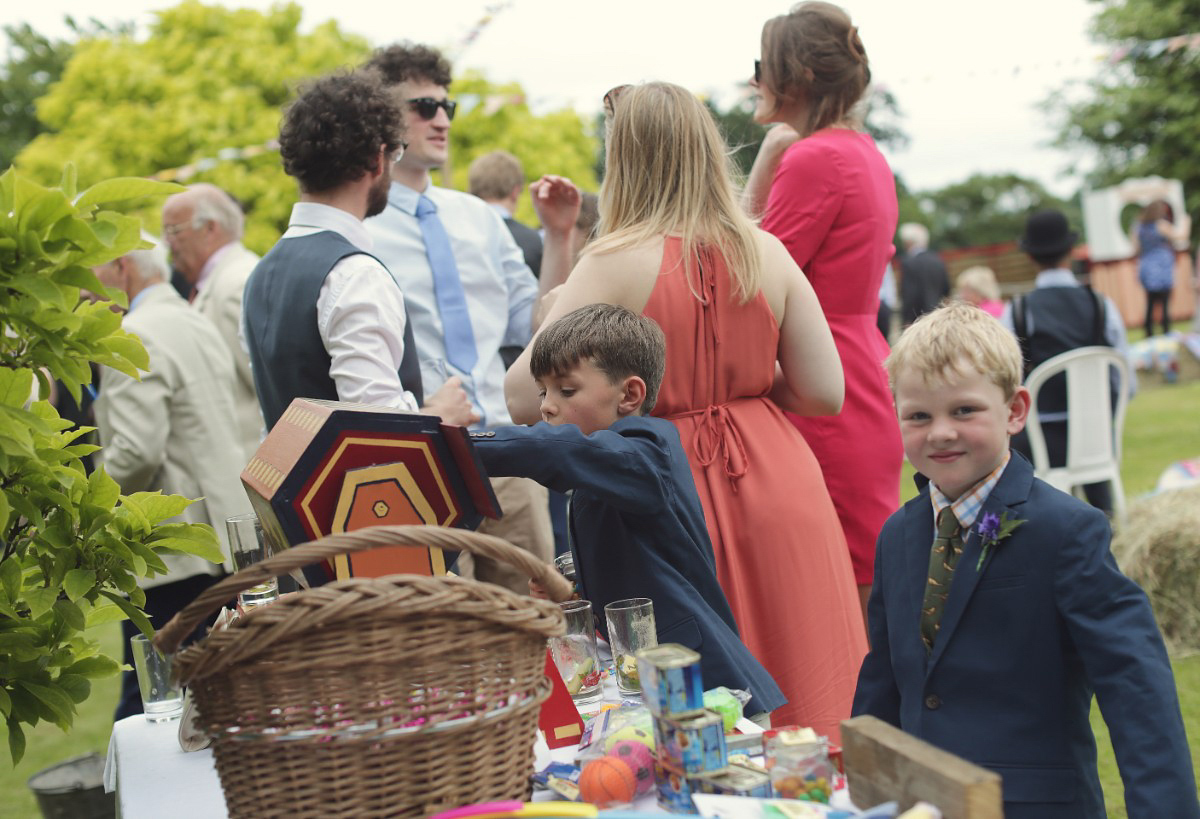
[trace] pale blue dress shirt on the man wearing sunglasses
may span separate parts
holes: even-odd
[[[425,196],[438,209],[458,265],[479,353],[474,370],[458,372],[446,360],[433,271],[416,222],[418,191],[391,184],[386,210],[365,222],[374,239],[374,253],[404,293],[426,390],[433,391],[448,376],[462,376],[481,416],[478,425],[509,425],[512,419],[504,401],[500,347],[529,343],[538,280],[504,220],[486,202],[434,185],[426,189]]]

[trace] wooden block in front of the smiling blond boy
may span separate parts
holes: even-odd
[[[1000,775],[935,748],[882,719],[841,724],[850,797],[860,808],[898,801],[936,806],[944,819],[1003,819]]]

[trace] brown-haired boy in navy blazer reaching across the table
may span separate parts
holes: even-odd
[[[594,611],[650,598],[659,642],[700,652],[704,686],[749,691],[745,713],[757,716],[786,699],[738,636],[679,434],[647,414],[665,357],[652,319],[607,304],[575,310],[534,340],[544,423],[470,436],[490,474],[575,490],[571,550]]]

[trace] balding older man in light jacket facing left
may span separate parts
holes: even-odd
[[[229,349],[236,373],[233,399],[242,464],[254,455],[263,437],[250,355],[238,339],[241,294],[258,264],[258,255],[241,244],[244,223],[241,208],[215,185],[192,185],[169,197],[162,208],[162,232],[175,268],[191,283],[192,306],[216,325]]]

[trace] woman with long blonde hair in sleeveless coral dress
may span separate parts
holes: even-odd
[[[836,412],[838,351],[799,268],[742,211],[704,106],[666,83],[606,100],[598,238],[546,322],[601,301],[662,327],[654,414],[679,430],[740,636],[788,698],[772,721],[836,737],[866,639],[821,470],[780,407]],[[527,354],[505,383],[517,423],[540,417]]]

